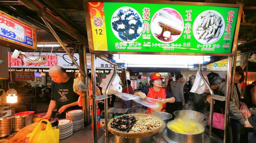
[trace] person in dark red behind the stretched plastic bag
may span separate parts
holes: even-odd
[[[122,85],[122,92],[128,94],[134,94],[133,87],[131,86],[130,80],[125,80],[124,85]],[[130,100],[122,100],[124,108],[131,108],[132,104]]]

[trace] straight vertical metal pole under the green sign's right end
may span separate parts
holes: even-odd
[[[231,71],[232,71],[232,57],[229,56],[228,57],[228,63],[227,63],[227,85],[226,85],[226,103],[225,103],[225,118],[224,118],[224,137],[223,137],[223,141],[224,143],[226,143],[227,141],[227,131],[228,131],[228,118],[229,118],[229,103],[230,103],[230,90],[232,89],[231,86],[229,86],[231,84],[232,81],[232,76],[231,76]]]

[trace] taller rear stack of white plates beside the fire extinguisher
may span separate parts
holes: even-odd
[[[73,131],[81,130],[84,127],[84,110],[77,109],[66,112],[66,118],[72,119]]]

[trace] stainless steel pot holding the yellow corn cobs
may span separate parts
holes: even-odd
[[[175,120],[172,120],[167,123],[167,135],[172,141],[177,142],[177,143],[203,143],[204,142],[205,128],[203,127],[203,125],[197,124],[199,127],[203,128],[202,133],[188,135],[188,134],[177,133],[177,132],[171,130],[170,128],[168,128],[168,126],[170,124],[173,124],[174,121]]]

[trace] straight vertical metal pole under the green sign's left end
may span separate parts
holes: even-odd
[[[93,142],[98,142],[98,134],[97,134],[97,92],[96,92],[96,65],[95,65],[95,54],[91,53],[91,68],[92,68],[92,100],[93,100]],[[106,124],[105,124],[106,126]]]

